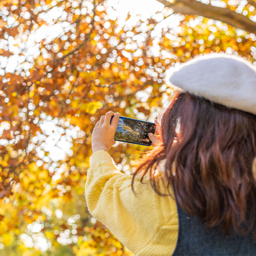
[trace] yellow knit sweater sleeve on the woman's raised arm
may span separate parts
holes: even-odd
[[[132,176],[121,174],[108,152],[97,151],[88,170],[88,209],[136,256],[172,255],[179,229],[176,201],[160,197],[150,180],[144,181],[136,178],[135,196]]]

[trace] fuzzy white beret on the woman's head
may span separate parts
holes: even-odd
[[[198,55],[166,70],[166,84],[256,115],[256,68],[241,56]]]

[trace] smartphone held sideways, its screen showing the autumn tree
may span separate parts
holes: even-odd
[[[113,117],[114,116],[111,117],[110,123],[112,122]],[[152,141],[148,137],[148,134],[155,134],[155,131],[155,123],[120,116],[114,140],[144,146],[151,146]]]

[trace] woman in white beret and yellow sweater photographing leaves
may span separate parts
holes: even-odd
[[[119,114],[96,123],[87,205],[136,256],[256,255],[255,81],[251,63],[233,55],[170,70],[160,140],[151,135],[154,150],[133,176],[108,154]]]

